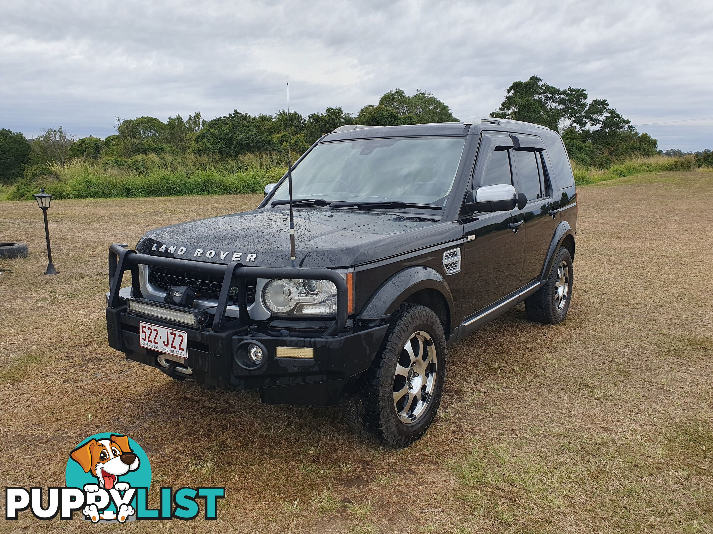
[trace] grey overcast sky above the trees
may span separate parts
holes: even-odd
[[[713,9],[681,1],[0,0],[0,127],[359,112],[431,91],[488,116],[538,75],[605,98],[663,150],[713,148]]]

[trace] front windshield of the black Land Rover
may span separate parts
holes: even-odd
[[[443,206],[465,142],[463,137],[390,137],[322,143],[292,171],[292,198]],[[287,198],[285,180],[272,201]]]

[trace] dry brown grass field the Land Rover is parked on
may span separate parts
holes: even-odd
[[[113,532],[713,532],[713,174],[580,187],[575,289],[561,325],[522,305],[450,352],[434,426],[403,451],[341,407],[204,391],[110,350],[107,247],[242,211],[257,196],[0,202],[0,486],[63,486],[69,451],[129,434],[160,486],[225,486],[218,520]],[[4,505],[3,505],[4,506]],[[96,532],[29,511],[2,530]]]

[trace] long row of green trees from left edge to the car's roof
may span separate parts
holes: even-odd
[[[392,126],[426,122],[455,122],[451,110],[429,92],[416,90],[406,95],[402,89],[385,93],[376,105],[366,105],[359,113],[350,114],[342,107],[306,117],[298,112],[280,110],[275,115],[250,115],[238,110],[212,120],[196,111],[183,119],[181,115],[163,122],[155,117],[117,119],[116,133],[105,139],[75,137],[60,126],[42,130],[34,140],[20,132],[0,130],[0,183],[11,184],[22,177],[31,178],[44,172],[50,162],[65,164],[83,157],[130,158],[142,154],[217,155],[239,157],[257,152],[302,153],[309,145],[347,124]]]

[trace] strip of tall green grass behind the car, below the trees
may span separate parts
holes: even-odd
[[[293,155],[297,156],[297,155]],[[695,162],[684,157],[630,157],[607,169],[583,167],[572,161],[577,185],[595,184],[645,172],[690,171]],[[702,167],[705,172],[711,167]],[[0,201],[32,200],[44,187],[56,199],[185,197],[261,193],[287,172],[281,153],[247,154],[225,159],[192,154],[148,154],[131,158],[73,159],[43,167],[39,177],[26,177],[0,187]]]

